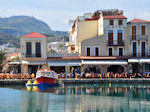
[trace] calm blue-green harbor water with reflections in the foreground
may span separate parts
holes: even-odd
[[[150,112],[150,85],[1,86],[0,112]]]

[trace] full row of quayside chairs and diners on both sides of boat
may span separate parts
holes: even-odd
[[[35,74],[8,74],[8,73],[0,73],[0,80],[2,79],[33,79],[35,78]],[[58,78],[150,78],[150,74],[140,74],[140,73],[82,73],[82,74],[58,74]]]

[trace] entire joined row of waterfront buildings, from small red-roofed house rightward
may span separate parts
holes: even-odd
[[[69,31],[69,52],[47,53],[46,37],[21,37],[22,73],[50,68],[63,73],[150,72],[150,21],[127,22],[123,11],[98,10],[75,19]]]

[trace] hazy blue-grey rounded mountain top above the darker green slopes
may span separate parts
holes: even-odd
[[[46,23],[30,16],[0,18],[0,32],[13,36],[25,35],[31,32],[55,33]]]

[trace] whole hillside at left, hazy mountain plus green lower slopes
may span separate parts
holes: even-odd
[[[45,22],[30,16],[12,16],[0,18],[0,44],[5,44],[8,41],[19,46],[19,36],[38,32],[50,37],[61,38],[67,37],[68,33],[63,31],[53,31]],[[54,39],[52,39],[54,41]]]

